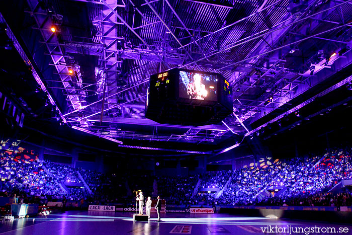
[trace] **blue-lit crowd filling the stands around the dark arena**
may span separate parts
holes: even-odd
[[[6,151],[1,151],[0,156],[0,196],[16,196],[23,202],[67,198],[95,204],[133,204],[133,192],[139,189],[145,197],[161,195],[167,205],[351,206],[352,200],[350,192],[332,190],[335,186],[339,189],[342,180],[352,179],[350,148],[275,161],[265,167],[252,165],[189,177],[103,174],[50,161],[42,165],[38,160],[17,159]],[[66,187],[67,182],[81,186]],[[270,187],[277,190],[270,191]],[[215,199],[216,193],[202,190],[207,188],[224,190]]]

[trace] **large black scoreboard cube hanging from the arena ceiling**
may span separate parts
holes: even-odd
[[[221,74],[175,68],[150,76],[145,117],[199,126],[221,122],[232,106],[232,88]]]

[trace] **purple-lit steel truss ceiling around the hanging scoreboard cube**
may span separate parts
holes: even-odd
[[[298,12],[287,10],[289,0],[67,2],[86,9],[76,17],[89,19],[88,33],[74,31],[75,17],[58,1],[46,7],[27,1],[33,30],[56,69],[43,80],[66,96],[62,116],[70,125],[119,141],[216,144],[244,135],[352,63],[352,0],[309,0]],[[83,58],[92,59],[93,72]],[[222,73],[233,86],[234,113],[204,127],[146,120],[149,76],[173,67]],[[159,134],[157,127],[167,131]]]

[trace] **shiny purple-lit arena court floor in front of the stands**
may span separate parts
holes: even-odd
[[[352,224],[282,220],[266,217],[245,217],[229,214],[167,213],[157,222],[156,214],[148,222],[133,221],[131,212],[67,211],[59,214],[38,215],[0,223],[0,234],[70,235],[70,234],[253,234],[262,233],[260,227],[335,227],[348,228]],[[273,230],[272,230],[273,231]],[[272,232],[266,232],[270,234]],[[340,232],[341,233],[341,232]],[[289,234],[276,232],[275,234]],[[305,234],[305,233],[292,233]],[[327,233],[309,233],[327,234]],[[331,234],[331,233],[328,233]]]

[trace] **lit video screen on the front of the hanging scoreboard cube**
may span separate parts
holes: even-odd
[[[215,74],[198,71],[180,71],[179,97],[194,100],[217,101],[218,80]]]

